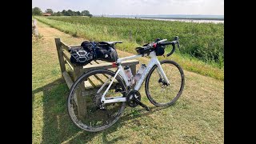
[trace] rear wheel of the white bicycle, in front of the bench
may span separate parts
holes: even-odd
[[[80,129],[91,132],[105,130],[121,117],[126,102],[102,104],[100,101],[114,74],[111,70],[90,70],[74,82],[70,89],[67,107],[72,122]],[[110,81],[106,82],[109,78]],[[105,82],[106,86],[99,90]],[[120,96],[125,96],[125,84],[118,75],[105,98]]]

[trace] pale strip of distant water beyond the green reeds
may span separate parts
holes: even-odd
[[[101,15],[101,16],[109,17],[109,18],[154,19],[154,20],[160,20],[160,21],[224,23],[224,15],[158,14],[158,15]]]

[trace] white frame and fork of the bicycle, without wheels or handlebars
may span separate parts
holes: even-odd
[[[158,66],[157,70],[158,70],[159,76],[161,78],[165,79],[168,85],[170,84],[170,82],[168,81],[168,78],[166,77],[166,74],[162,70],[162,66],[161,66],[160,62],[158,61],[158,57],[156,56],[155,52],[154,51],[150,52],[149,56],[150,56],[150,62],[146,66],[146,70],[143,72],[142,77],[139,79],[138,82],[136,82],[136,85],[134,86],[134,90],[139,90],[141,88],[142,83],[144,82],[147,74],[149,74],[150,70],[153,68],[154,65]],[[130,86],[130,82],[128,82],[128,79],[126,77],[125,71],[123,70],[121,62],[129,60],[129,59],[140,58],[140,57],[142,57],[142,54],[137,54],[137,55],[133,55],[133,56],[126,57],[126,58],[118,58],[118,60],[117,60],[118,70],[116,71],[114,78],[116,78],[118,76],[118,74],[120,74],[121,77],[123,78],[124,82],[126,83],[126,86]],[[106,88],[105,92],[102,94],[102,99],[101,99],[102,103],[126,102],[126,98],[124,98],[122,96],[115,97],[115,98],[105,98],[107,91],[110,89],[110,86],[114,82],[114,78],[110,82],[110,85]],[[106,81],[106,82],[108,82],[108,81]],[[99,93],[99,91],[102,90],[102,88],[104,86],[106,86],[106,82],[102,85],[102,87],[98,90],[97,93]]]

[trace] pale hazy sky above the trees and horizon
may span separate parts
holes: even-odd
[[[224,0],[32,0],[42,11],[89,10],[90,14],[224,15]]]

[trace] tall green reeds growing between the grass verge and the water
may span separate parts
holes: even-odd
[[[218,62],[222,67],[224,59],[224,24],[166,22],[131,18],[81,18],[50,17],[62,22],[89,26],[103,34],[144,44],[154,38],[180,37],[182,54],[190,54],[205,62]]]

